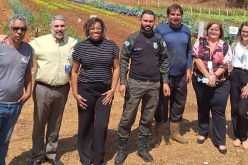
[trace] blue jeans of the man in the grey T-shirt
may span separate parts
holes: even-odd
[[[0,165],[5,165],[9,140],[20,115],[22,104],[0,104]]]

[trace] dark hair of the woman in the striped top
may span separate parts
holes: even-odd
[[[92,17],[88,19],[84,24],[84,34],[86,37],[90,35],[90,28],[95,25],[95,23],[99,22],[102,27],[102,37],[105,38],[106,26],[102,19],[98,17]]]

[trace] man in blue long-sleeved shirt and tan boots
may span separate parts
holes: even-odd
[[[154,32],[159,33],[166,42],[169,52],[169,81],[171,95],[165,97],[160,92],[159,105],[155,113],[155,129],[151,144],[156,147],[161,142],[161,126],[169,121],[171,138],[185,144],[179,133],[179,122],[182,119],[187,97],[187,84],[191,81],[192,56],[191,32],[182,24],[183,9],[178,4],[167,8],[168,22],[159,24]]]

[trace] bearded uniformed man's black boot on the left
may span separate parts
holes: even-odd
[[[115,156],[115,165],[121,165],[127,158],[127,139],[118,138],[117,154]]]

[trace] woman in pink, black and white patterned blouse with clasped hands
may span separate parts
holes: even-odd
[[[228,67],[232,51],[222,40],[220,23],[210,22],[206,30],[206,36],[198,38],[192,50],[195,61],[192,82],[198,106],[197,143],[202,144],[208,136],[211,111],[214,145],[220,153],[226,154],[225,109],[230,91]]]

